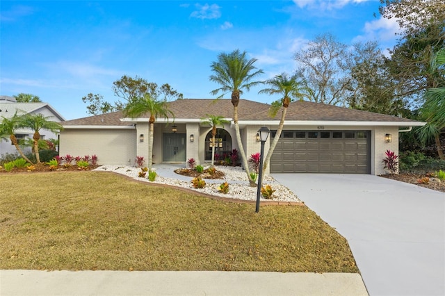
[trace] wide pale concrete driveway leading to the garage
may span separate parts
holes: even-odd
[[[344,236],[369,295],[445,295],[445,193],[364,174],[272,174]]]

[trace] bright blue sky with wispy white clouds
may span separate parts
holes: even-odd
[[[184,98],[211,99],[218,85],[209,81],[210,65],[221,52],[247,51],[263,80],[293,73],[293,54],[319,34],[393,47],[398,27],[380,17],[378,6],[378,0],[2,0],[0,94],[38,95],[67,120],[88,116],[81,98],[90,92],[117,101],[112,86],[122,75],[169,83]],[[279,99],[259,89],[243,99]]]

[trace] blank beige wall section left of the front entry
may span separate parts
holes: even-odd
[[[65,129],[60,133],[60,156],[97,156],[101,165],[134,165],[136,129]]]

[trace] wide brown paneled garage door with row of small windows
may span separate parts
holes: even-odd
[[[283,131],[270,172],[369,174],[369,131]]]

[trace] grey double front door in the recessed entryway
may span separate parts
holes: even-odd
[[[186,161],[186,134],[163,133],[163,161],[184,163]]]

